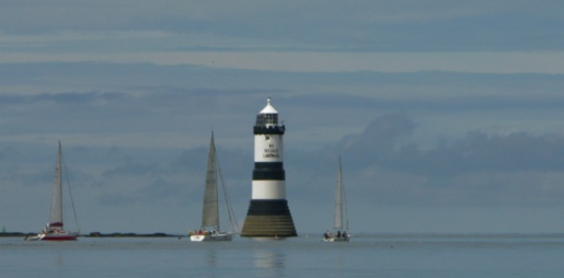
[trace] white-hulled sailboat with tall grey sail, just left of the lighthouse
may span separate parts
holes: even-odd
[[[219,167],[216,154],[214,134],[211,134],[211,139],[209,141],[208,165],[204,192],[202,227],[199,230],[189,232],[191,241],[231,241],[233,239],[233,232],[222,232],[219,227],[218,176],[220,177],[221,182],[229,221],[231,222],[231,227],[233,227],[233,221],[237,223],[237,219],[234,218],[233,210],[231,209],[229,195],[223,183],[223,176],[221,174],[221,169]]]

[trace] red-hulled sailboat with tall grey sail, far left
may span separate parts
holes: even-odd
[[[59,141],[59,151],[57,152],[57,161],[55,164],[55,182],[53,185],[53,201],[50,209],[49,223],[37,235],[26,236],[28,241],[76,241],[79,232],[66,231],[62,225],[62,148]],[[69,195],[72,204],[72,211],[74,213],[74,221],[77,221],[77,212],[74,211],[74,201],[72,194]],[[78,221],[77,221],[78,223]]]

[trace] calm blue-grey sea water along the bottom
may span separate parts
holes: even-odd
[[[0,238],[0,277],[564,277],[564,234],[359,234],[324,243]]]

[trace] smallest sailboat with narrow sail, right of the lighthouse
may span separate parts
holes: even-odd
[[[346,225],[343,227],[343,220],[346,220]],[[323,234],[323,241],[325,242],[348,242],[350,235],[347,233],[348,230],[348,209],[345,198],[345,188],[343,183],[343,167],[341,166],[341,158],[338,158],[338,170],[337,170],[337,184],[335,187],[335,222],[334,229],[336,230],[335,236],[329,231]]]

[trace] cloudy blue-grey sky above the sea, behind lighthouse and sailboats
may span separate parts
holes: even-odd
[[[241,227],[256,114],[286,125],[300,235],[564,232],[564,2],[2,1],[0,225],[199,228],[207,148]],[[67,200],[69,198],[66,198]]]

